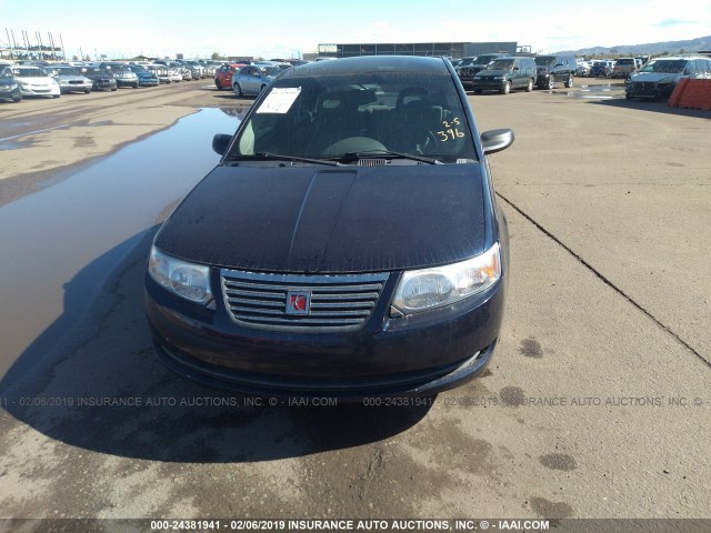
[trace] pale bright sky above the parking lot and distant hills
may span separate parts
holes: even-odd
[[[577,50],[711,36],[711,0],[0,0],[0,47],[40,32],[68,57],[299,57],[318,44],[517,41]]]

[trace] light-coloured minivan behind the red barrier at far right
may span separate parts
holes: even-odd
[[[711,79],[711,59],[703,56],[673,56],[657,58],[630,77],[624,87],[628,99],[669,98],[679,80]]]

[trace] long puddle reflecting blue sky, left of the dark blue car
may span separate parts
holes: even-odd
[[[66,311],[63,285],[111,251],[102,257],[106,269],[92,264],[82,273],[86,308],[108,269],[218,162],[212,135],[238,124],[233,115],[203,109],[0,208],[0,379]]]

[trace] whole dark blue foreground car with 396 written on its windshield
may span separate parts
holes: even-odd
[[[296,67],[214,137],[222,159],[158,231],[144,276],[171,370],[361,402],[484,371],[509,278],[487,155],[513,132],[480,133],[455,77],[443,58]]]

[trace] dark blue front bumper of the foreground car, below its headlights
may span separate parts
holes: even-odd
[[[161,359],[192,380],[269,396],[430,395],[483,371],[503,315],[504,283],[421,315],[391,319],[392,275],[357,331],[294,333],[239,326],[216,299],[209,311],[146,275],[146,309]],[[218,285],[219,286],[219,285]]]

